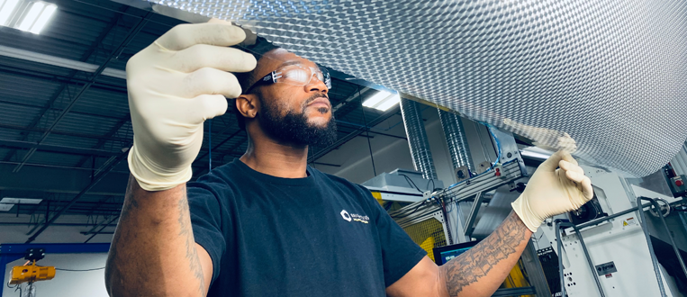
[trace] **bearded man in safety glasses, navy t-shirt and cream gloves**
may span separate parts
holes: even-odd
[[[127,64],[134,145],[111,295],[490,296],[544,219],[592,198],[556,153],[491,236],[438,267],[364,187],[307,166],[308,145],[334,135],[326,73],[284,49],[256,61],[228,48],[244,38],[229,23],[180,25]],[[230,72],[248,73],[243,88]],[[225,97],[249,147],[187,185]]]

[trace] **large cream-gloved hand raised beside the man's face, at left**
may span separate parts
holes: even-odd
[[[224,114],[241,94],[232,72],[247,72],[256,59],[239,49],[246,34],[231,23],[181,24],[129,59],[126,82],[133,126],[129,169],[148,191],[191,179],[203,144],[203,121]]]

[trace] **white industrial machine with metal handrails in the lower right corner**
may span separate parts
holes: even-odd
[[[679,278],[687,275],[680,252],[685,249],[685,226],[678,223],[669,229],[665,220],[681,217],[664,218],[671,204],[682,204],[682,198],[648,190],[639,185],[646,183],[630,183],[604,168],[583,165],[583,169],[592,179],[594,199],[580,211],[548,220],[534,236],[544,247],[540,250],[556,251],[558,266],[563,267],[556,278],[562,290],[552,293],[682,296]],[[666,248],[656,253],[661,242]],[[656,255],[672,260],[659,261]],[[667,262],[679,265],[670,271]]]

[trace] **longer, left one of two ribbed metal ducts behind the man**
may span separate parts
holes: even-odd
[[[401,98],[401,113],[415,170],[420,171],[423,178],[437,179],[437,169],[434,168],[432,153],[429,151],[429,140],[420,114],[419,104]]]

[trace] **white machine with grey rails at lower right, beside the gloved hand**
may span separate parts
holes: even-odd
[[[574,219],[574,214],[559,215],[547,220],[547,224],[542,225],[535,234],[534,238],[539,238],[539,247],[546,247],[545,243],[549,243],[556,251],[561,245],[558,257],[564,266],[562,275],[567,296],[683,296],[673,277],[666,273],[663,266],[654,263],[653,251],[647,244],[649,237],[643,229],[645,226],[640,223],[642,214],[629,211],[637,207],[638,196],[660,198],[668,203],[678,200],[629,184],[625,178],[604,169],[592,166],[583,168],[592,179],[597,207],[601,207],[601,211],[608,215],[606,218],[618,216],[610,220],[593,220],[591,224],[578,223],[577,226],[582,227],[579,234],[574,228],[562,229],[558,242],[554,221]],[[651,216],[648,207],[645,207],[645,211],[644,217]],[[585,255],[583,245],[588,255]],[[659,275],[663,285],[657,281]]]

